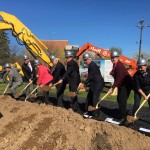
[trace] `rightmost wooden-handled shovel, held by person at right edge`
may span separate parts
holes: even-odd
[[[150,97],[150,94],[147,96],[147,99],[149,99]],[[139,112],[139,110],[143,107],[143,105],[145,104],[145,102],[147,102],[147,99],[145,99],[141,105],[139,106],[139,108],[137,109],[137,111],[135,112],[134,116],[130,116],[128,115],[126,120],[127,120],[127,123],[133,123],[134,121],[138,120],[137,118],[137,113]]]

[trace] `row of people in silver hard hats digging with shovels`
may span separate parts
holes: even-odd
[[[79,86],[80,74],[79,67],[76,61],[73,59],[73,53],[67,51],[65,54],[65,59],[67,62],[67,68],[65,70],[64,65],[56,58],[54,55],[50,56],[51,61],[54,64],[52,70],[50,70],[46,64],[40,63],[38,60],[32,62],[27,56],[24,56],[24,64],[22,65],[22,70],[25,75],[27,82],[36,78],[36,69],[38,70],[38,85],[48,85],[51,87],[53,84],[57,83],[57,100],[58,106],[64,107],[63,93],[68,83],[70,92],[77,92]],[[86,108],[85,111],[88,112],[86,117],[97,116],[98,110],[96,109],[96,104],[99,101],[100,94],[104,87],[104,79],[101,75],[100,69],[92,61],[92,56],[90,53],[83,54],[84,63],[88,66],[88,78],[80,84],[80,88],[89,85],[89,91],[86,99]],[[129,98],[130,92],[134,90],[134,106],[133,106],[133,115],[140,105],[141,97],[148,100],[148,94],[150,93],[150,69],[147,67],[147,63],[144,59],[141,59],[137,62],[137,72],[131,78],[124,64],[119,60],[118,52],[113,51],[111,53],[111,61],[113,63],[113,68],[110,74],[114,77],[114,83],[112,88],[110,88],[109,93],[112,93],[113,90],[118,88],[117,102],[119,106],[121,120],[126,118],[127,110],[127,100]],[[12,70],[12,68],[6,66]],[[31,69],[32,68],[32,69]],[[11,71],[10,71],[11,77]],[[12,78],[12,77],[11,77]],[[17,74],[17,80],[20,79]],[[21,80],[21,79],[20,79]],[[12,80],[10,80],[10,90],[15,93],[14,89],[21,85],[21,83],[12,85]],[[19,81],[15,81],[19,82]],[[133,84],[132,84],[133,83]],[[12,90],[13,89],[13,90]],[[26,96],[29,94],[30,89],[27,89]],[[49,93],[45,92],[45,103],[48,102]],[[149,99],[150,100],[150,99]],[[149,101],[148,101],[149,102]],[[150,104],[150,103],[149,103]],[[77,96],[71,97],[70,107],[78,113],[81,113],[80,106],[77,100]]]

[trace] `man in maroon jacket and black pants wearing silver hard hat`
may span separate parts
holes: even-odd
[[[110,57],[113,63],[110,75],[114,77],[114,83],[108,92],[113,93],[114,89],[118,88],[117,102],[119,105],[119,115],[117,118],[120,119],[120,124],[123,124],[127,115],[127,100],[132,89],[132,78],[124,64],[119,60],[119,53],[117,51],[112,51]]]

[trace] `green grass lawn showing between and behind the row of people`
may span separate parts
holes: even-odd
[[[0,95],[3,94],[3,91],[5,90],[5,87],[7,86],[6,83],[0,83]],[[18,92],[20,92],[24,87],[26,86],[26,84],[24,83],[23,85],[21,85],[19,88],[18,88]],[[56,90],[55,89],[51,89],[50,91],[51,93],[56,93]],[[68,92],[68,89],[65,90],[65,93]],[[6,93],[10,93],[10,91],[8,90]],[[106,94],[106,92],[102,92],[100,98],[102,98],[104,95]],[[134,92],[131,91],[131,94],[129,96],[129,99],[128,99],[128,104],[133,104],[134,103]],[[87,96],[87,92],[79,92],[78,94],[79,97],[83,97],[83,98],[86,98]],[[116,96],[112,96],[112,95],[108,95],[106,97],[106,99],[108,101],[115,101],[116,102]],[[148,104],[146,103],[145,106],[148,106]]]

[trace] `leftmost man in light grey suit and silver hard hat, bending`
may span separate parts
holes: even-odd
[[[5,64],[4,69],[8,72],[9,77],[7,88],[10,89],[14,98],[18,98],[15,97],[17,93],[16,89],[23,84],[22,76],[19,74],[18,70],[15,67],[11,67],[9,63]]]

